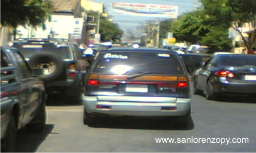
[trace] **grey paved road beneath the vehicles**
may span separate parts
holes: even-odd
[[[83,106],[62,105],[60,103],[70,102],[64,98],[52,98],[50,102],[45,132],[31,134],[23,129],[17,138],[18,152],[256,151],[256,100],[244,96],[225,96],[222,101],[207,101],[194,95],[190,129],[175,128],[168,120],[131,118],[103,119],[102,124],[88,127],[82,122]],[[248,138],[249,143],[155,142],[155,138],[192,137],[211,138],[211,141],[212,138]]]

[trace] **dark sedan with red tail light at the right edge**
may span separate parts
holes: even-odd
[[[196,75],[194,91],[204,91],[207,99],[218,99],[221,94],[256,94],[256,56],[213,56]]]

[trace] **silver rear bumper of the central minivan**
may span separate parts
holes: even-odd
[[[108,98],[109,97],[109,98]],[[111,97],[111,98],[110,98]],[[190,98],[136,96],[82,96],[87,113],[120,116],[184,116],[191,108]],[[105,100],[101,100],[105,99]],[[115,100],[110,100],[115,99]],[[99,108],[101,107],[102,108]],[[174,108],[166,110],[163,108]],[[176,110],[175,110],[176,108]]]

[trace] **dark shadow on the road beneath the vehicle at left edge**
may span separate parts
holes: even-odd
[[[35,152],[41,143],[52,134],[54,124],[46,124],[42,133],[31,133],[26,127],[17,133],[16,152]]]

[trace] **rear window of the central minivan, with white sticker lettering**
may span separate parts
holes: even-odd
[[[150,72],[151,74],[164,72],[164,74],[169,75],[184,74],[178,56],[143,51],[104,53],[96,61],[93,69],[93,73],[105,74],[137,74],[144,72]]]

